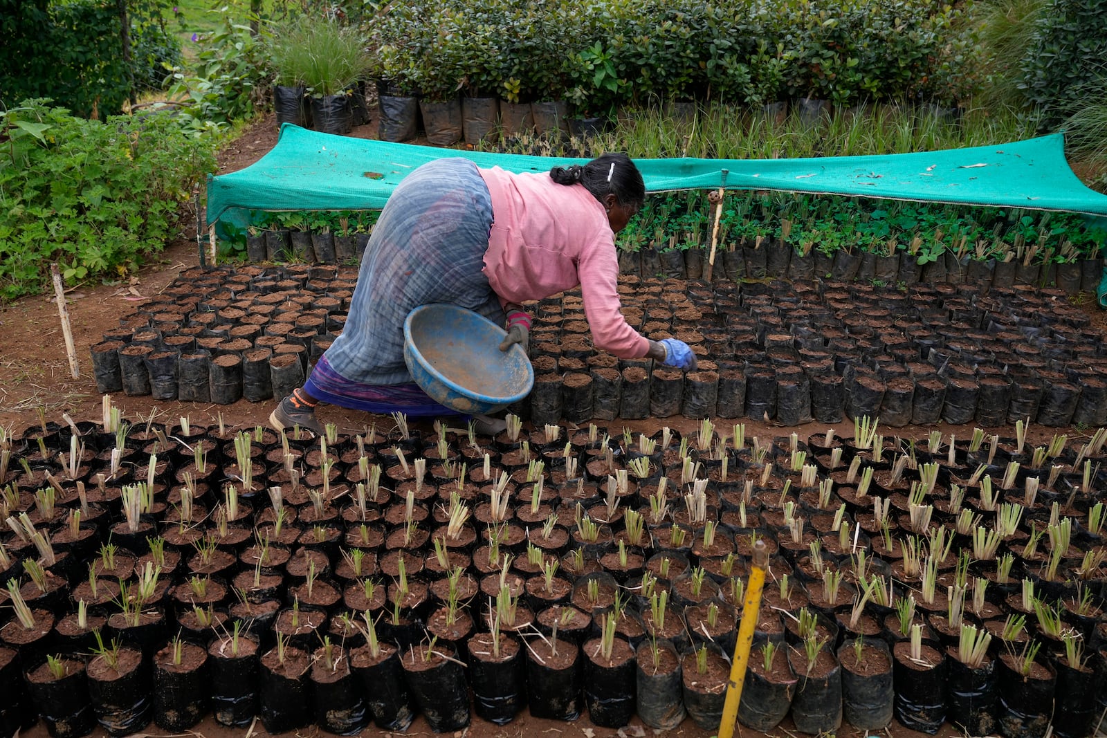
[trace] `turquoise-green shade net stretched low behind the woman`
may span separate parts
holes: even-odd
[[[391,144],[286,123],[277,145],[257,163],[208,178],[207,221],[245,226],[248,210],[380,209],[408,171],[449,156],[508,171],[548,171],[587,160]],[[1063,134],[883,156],[634,163],[650,193],[774,189],[1107,215],[1107,195],[1085,187],[1069,169]]]

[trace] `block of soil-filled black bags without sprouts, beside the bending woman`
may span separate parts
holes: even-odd
[[[93,347],[97,388],[217,404],[282,397],[341,332],[354,279],[325,266],[188,272]],[[529,306],[537,376],[513,412],[537,425],[674,415],[780,425],[879,416],[889,427],[1107,422],[1105,350],[1056,290],[623,276],[620,293],[632,326],[685,340],[700,371],[594,351],[579,292],[565,293]]]

